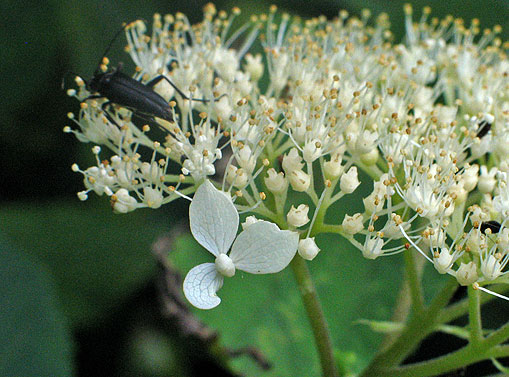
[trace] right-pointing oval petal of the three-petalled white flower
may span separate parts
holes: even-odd
[[[276,224],[262,220],[239,234],[230,258],[239,270],[271,274],[288,266],[298,245],[298,233],[280,230]]]

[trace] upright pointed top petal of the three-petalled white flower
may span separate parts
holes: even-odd
[[[189,206],[191,233],[214,256],[230,249],[239,228],[239,214],[232,199],[205,181]]]

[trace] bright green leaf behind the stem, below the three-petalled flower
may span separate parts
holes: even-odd
[[[356,323],[360,318],[387,320],[400,284],[401,259],[369,261],[345,240],[320,237],[322,251],[310,268],[329,321],[337,354],[348,354],[359,371],[373,357],[381,336]],[[182,238],[171,254],[183,274],[197,264],[212,262],[210,253],[191,236]],[[246,357],[232,366],[249,376],[319,376],[318,355],[298,288],[289,268],[274,275],[237,271],[218,292],[221,304],[212,310],[195,310],[221,334],[222,343],[237,349],[256,347],[272,363],[262,373]]]

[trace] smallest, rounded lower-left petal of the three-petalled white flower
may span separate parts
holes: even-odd
[[[223,277],[214,263],[203,263],[193,267],[184,279],[184,295],[198,309],[212,309],[221,299],[216,292],[223,286]]]

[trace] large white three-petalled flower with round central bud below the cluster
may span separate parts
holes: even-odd
[[[221,299],[216,292],[223,286],[224,276],[232,277],[236,269],[252,274],[279,272],[293,259],[299,244],[296,232],[280,230],[264,220],[245,227],[235,239],[239,227],[237,210],[230,196],[210,181],[196,190],[189,221],[194,238],[216,257],[215,263],[192,268],[184,279],[184,294],[199,309],[219,305]]]

